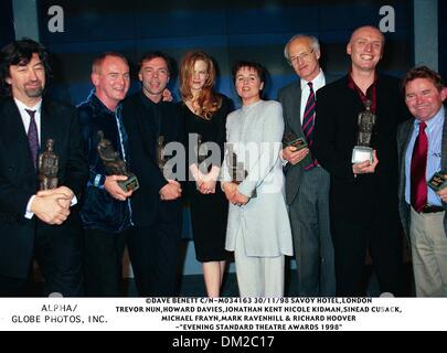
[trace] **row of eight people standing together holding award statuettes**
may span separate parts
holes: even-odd
[[[44,95],[50,66],[41,44],[8,44],[0,61],[0,296],[24,295],[35,258],[47,293],[117,297],[126,246],[138,293],[175,296],[184,194],[210,297],[221,293],[228,252],[242,297],[284,296],[285,256],[294,253],[299,296],[364,295],[366,254],[380,290],[403,296],[400,211],[416,295],[447,296],[447,189],[427,195],[426,185],[447,170],[447,93],[438,74],[418,67],[404,79],[403,99],[400,82],[376,71],[383,52],[376,28],[356,29],[347,45],[350,72],[333,81],[319,65],[318,40],[295,35],[284,54],[299,79],[279,90],[279,101],[264,100],[266,69],[237,62],[232,76],[242,107],[234,111],[215,90],[215,63],[201,51],[181,60],[181,103],[166,89],[172,63],[163,53],[142,56],[141,90],[127,97],[129,64],[107,52],[94,60],[94,89],[75,109]],[[374,152],[353,163],[366,101],[376,116]],[[56,189],[38,191],[35,136],[40,146],[55,140]],[[138,190],[120,186],[128,176],[108,174],[102,136],[138,178]],[[283,143],[285,136],[305,147]],[[185,178],[167,172],[160,141],[187,147],[172,156],[187,161],[175,167]]]

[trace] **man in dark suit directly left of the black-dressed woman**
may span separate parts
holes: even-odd
[[[130,169],[140,189],[131,199],[134,227],[128,249],[138,292],[142,297],[177,295],[177,268],[182,229],[181,185],[163,174],[163,146],[178,142],[183,149],[183,121],[178,105],[163,101],[170,77],[170,61],[161,52],[147,53],[140,61],[141,92],[123,105],[124,124],[129,136]],[[162,138],[162,141],[160,140]],[[180,148],[180,149],[179,149]],[[185,156],[177,154],[184,161]],[[184,167],[182,163],[184,180]],[[177,172],[181,172],[180,169]]]

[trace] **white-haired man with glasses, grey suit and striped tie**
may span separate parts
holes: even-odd
[[[312,145],[316,92],[326,78],[319,65],[320,45],[315,36],[297,34],[285,46],[284,55],[299,81],[279,90],[285,138],[302,138]],[[292,135],[290,135],[292,132]],[[294,236],[298,269],[298,295],[334,296],[333,246],[329,225],[329,173],[309,148],[283,149],[286,171],[286,201]]]

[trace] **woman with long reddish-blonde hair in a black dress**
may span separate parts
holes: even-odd
[[[219,297],[225,270],[225,234],[228,203],[216,184],[225,143],[226,116],[231,101],[215,92],[216,71],[212,58],[201,52],[187,53],[180,64],[180,94],[190,148],[196,160],[189,161],[192,180],[188,183],[195,256],[202,263],[209,297]],[[188,138],[187,138],[188,140]],[[200,151],[220,148],[217,158]],[[202,147],[201,147],[202,146]],[[191,156],[191,151],[189,153]],[[201,162],[200,156],[205,159]],[[206,162],[211,160],[211,162]]]

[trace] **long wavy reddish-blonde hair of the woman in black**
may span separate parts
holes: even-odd
[[[207,54],[201,51],[192,51],[184,54],[180,63],[180,94],[183,103],[192,100],[191,78],[194,74],[194,64],[200,60],[206,63],[207,77],[196,98],[199,109],[194,114],[206,120],[211,120],[213,114],[222,105],[222,97],[214,90],[215,66],[213,60]]]

